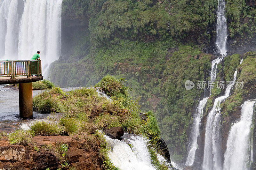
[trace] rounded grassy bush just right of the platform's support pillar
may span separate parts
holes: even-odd
[[[60,101],[49,97],[42,101],[42,104],[39,104],[38,112],[43,114],[50,114],[50,113],[59,113],[62,111],[62,107]]]

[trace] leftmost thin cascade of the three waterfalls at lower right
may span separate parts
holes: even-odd
[[[211,83],[213,83],[216,79],[217,75],[217,65],[221,62],[223,58],[217,58],[212,61],[212,69],[211,69]],[[210,88],[210,95],[211,95],[211,88]],[[190,135],[190,143],[188,145],[188,156],[185,165],[193,165],[196,157],[196,149],[197,149],[197,137],[200,135],[199,126],[201,123],[201,119],[204,115],[204,106],[207,102],[209,97],[204,97],[202,100],[199,101],[199,104],[196,108],[196,114],[194,115],[191,135]]]

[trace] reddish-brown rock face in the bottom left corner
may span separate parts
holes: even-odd
[[[77,169],[101,170],[100,143],[92,143],[91,148],[86,147],[84,139],[72,138],[71,136],[34,137],[33,144],[11,145],[7,140],[1,139],[0,143],[0,168],[3,169],[38,169],[50,168],[69,169],[64,162]],[[60,144],[67,144],[68,150],[64,159],[59,159],[52,148]],[[35,149],[37,148],[37,149]],[[90,149],[88,149],[90,148]]]

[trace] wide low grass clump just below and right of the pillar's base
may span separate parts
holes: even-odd
[[[30,130],[36,136],[57,136],[62,132],[62,127],[53,122],[36,121],[31,125]]]

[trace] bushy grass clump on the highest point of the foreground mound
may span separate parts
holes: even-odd
[[[127,97],[127,89],[129,87],[124,87],[122,81],[126,80],[124,78],[117,80],[113,76],[105,76],[95,87],[101,87],[108,96]]]

